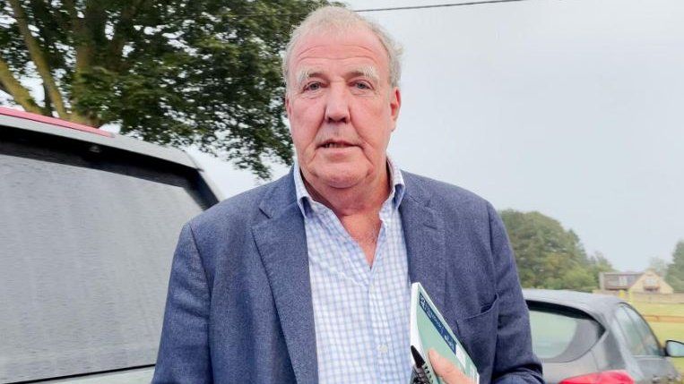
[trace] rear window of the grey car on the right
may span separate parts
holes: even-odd
[[[528,303],[532,350],[543,362],[570,362],[585,354],[603,334],[602,325],[582,311]]]

